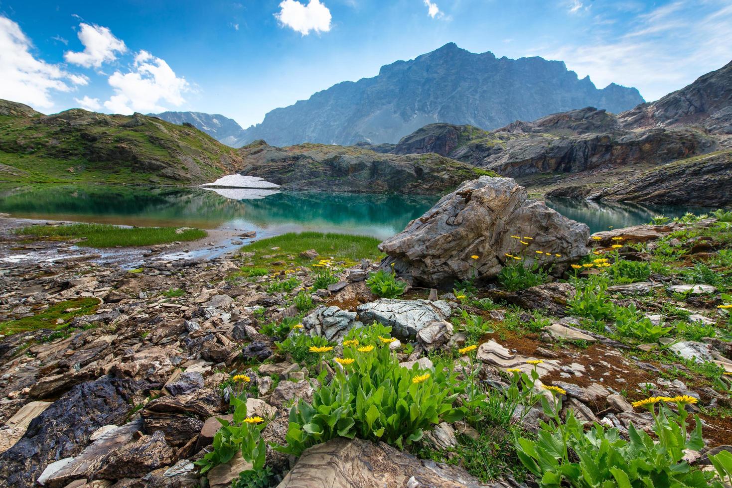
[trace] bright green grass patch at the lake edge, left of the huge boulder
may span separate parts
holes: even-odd
[[[315,249],[321,258],[333,258],[334,260],[346,260],[357,262],[362,258],[378,259],[384,255],[379,252],[376,246],[381,242],[379,239],[367,236],[353,236],[351,234],[301,232],[286,233],[282,236],[270,237],[255,241],[242,247],[242,252],[255,252],[253,261],[254,268],[271,268],[269,263],[278,260],[288,260],[290,263],[310,263],[307,258],[300,258],[299,254],[307,249]],[[280,249],[272,250],[272,247]],[[268,255],[270,258],[263,258]],[[294,256],[294,260],[288,258]],[[253,268],[244,268],[248,272]]]

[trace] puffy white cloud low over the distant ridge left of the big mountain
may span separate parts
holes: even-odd
[[[163,112],[168,108],[161,103],[182,105],[182,94],[190,91],[185,78],[176,76],[168,63],[145,50],[135,56],[130,72],[113,72],[109,84],[115,94],[104,106],[113,113]]]

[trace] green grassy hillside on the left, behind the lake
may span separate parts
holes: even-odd
[[[0,100],[0,180],[190,184],[233,173],[234,149],[193,127]]]

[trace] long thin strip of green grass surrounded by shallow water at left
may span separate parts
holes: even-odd
[[[86,238],[81,245],[89,247],[152,246],[173,241],[195,241],[206,237],[201,229],[184,230],[176,234],[174,227],[123,228],[116,225],[70,224],[51,227],[31,225],[18,230],[23,236],[48,237],[51,239]]]

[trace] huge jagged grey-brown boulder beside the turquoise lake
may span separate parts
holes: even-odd
[[[531,239],[525,245],[512,236]],[[382,268],[393,264],[414,282],[449,287],[474,275],[496,276],[515,263],[506,254],[520,256],[525,266],[538,260],[561,274],[589,253],[588,239],[587,225],[529,200],[513,179],[481,176],[461,184],[378,247],[387,255]]]

